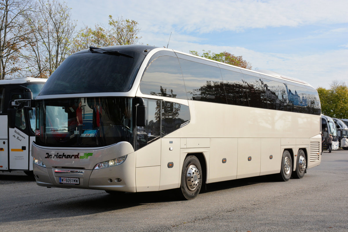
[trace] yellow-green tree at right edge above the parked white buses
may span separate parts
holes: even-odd
[[[317,88],[322,114],[332,118],[348,118],[348,87],[345,82],[333,81],[330,89]]]

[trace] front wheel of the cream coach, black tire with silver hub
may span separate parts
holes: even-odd
[[[194,155],[185,158],[182,172],[180,189],[186,200],[197,197],[202,187],[202,168],[200,162]]]

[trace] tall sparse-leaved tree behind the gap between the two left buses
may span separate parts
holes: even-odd
[[[69,55],[76,21],[71,19],[66,2],[39,0],[29,18],[32,33],[25,60],[27,76],[48,78]]]

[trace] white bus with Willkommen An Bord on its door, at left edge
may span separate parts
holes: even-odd
[[[46,79],[15,78],[0,80],[0,171],[33,170],[31,143],[35,139],[35,111],[25,107],[15,112],[15,128],[8,128],[9,102],[35,98]]]

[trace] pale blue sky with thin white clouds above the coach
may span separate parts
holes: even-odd
[[[139,23],[139,42],[189,53],[228,51],[252,64],[330,88],[348,84],[347,0],[70,0],[77,29],[108,16]]]

